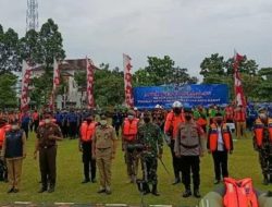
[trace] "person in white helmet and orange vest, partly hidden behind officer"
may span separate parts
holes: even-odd
[[[184,122],[183,105],[180,101],[174,101],[172,105],[172,111],[168,113],[166,121],[164,124],[164,134],[166,137],[166,143],[170,146],[172,154],[172,163],[174,169],[175,180],[173,185],[181,183],[181,159],[175,156],[174,145],[175,137],[177,135],[177,129],[181,123]]]

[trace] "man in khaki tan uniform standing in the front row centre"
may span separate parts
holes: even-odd
[[[116,133],[108,124],[107,117],[101,115],[100,125],[92,137],[92,158],[99,170],[100,188],[97,193],[111,194],[111,166],[116,151]]]

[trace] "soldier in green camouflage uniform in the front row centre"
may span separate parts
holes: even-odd
[[[143,180],[145,181],[144,195],[150,193],[149,184],[152,184],[151,193],[159,196],[158,185],[158,158],[162,157],[163,138],[160,127],[151,123],[151,114],[144,113],[145,123],[138,127],[137,141],[143,145],[140,154]]]

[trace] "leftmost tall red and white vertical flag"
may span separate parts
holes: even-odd
[[[21,93],[21,110],[27,111],[29,97],[28,97],[28,86],[30,83],[32,76],[32,66],[27,64],[26,61],[23,61],[23,69],[22,69],[22,93]]]

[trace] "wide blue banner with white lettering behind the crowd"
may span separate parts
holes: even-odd
[[[194,84],[184,86],[150,86],[134,88],[134,105],[139,109],[154,108],[161,105],[171,108],[174,101],[188,107],[226,105],[228,88],[225,84]]]

